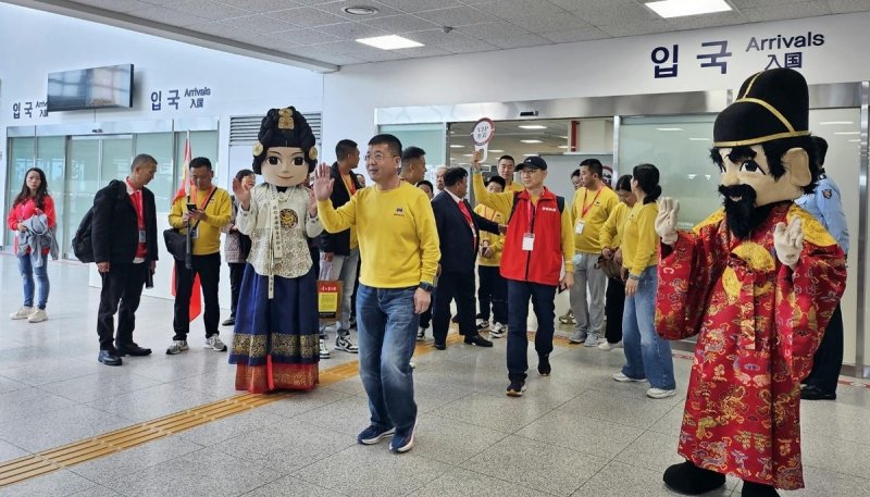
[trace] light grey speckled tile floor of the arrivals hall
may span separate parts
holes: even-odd
[[[154,349],[99,364],[99,291],[76,264],[52,263],[49,321],[0,318],[0,461],[234,395],[225,353],[165,356],[172,302],[145,298],[136,340]],[[20,305],[15,261],[0,256],[3,313]],[[225,338],[231,331],[225,328]],[[566,331],[567,332],[567,331]],[[530,353],[530,364],[536,359]],[[334,352],[321,368],[353,360]],[[224,418],[16,485],[0,496],[668,496],[664,468],[681,459],[676,434],[689,363],[674,359],[679,395],[644,396],[610,374],[622,350],[557,347],[554,374],[532,374],[521,399],[505,396],[505,340],[453,345],[417,360],[414,449],[357,445],[368,405],[358,377]],[[534,373],[534,371],[532,371]],[[870,390],[841,387],[835,402],[803,406],[807,488],[792,496],[870,495]],[[728,480],[713,496],[739,495]]]

